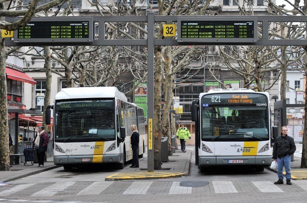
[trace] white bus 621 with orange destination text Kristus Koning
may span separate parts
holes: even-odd
[[[201,172],[218,165],[249,165],[263,171],[271,164],[268,93],[214,89],[201,93],[191,112]]]

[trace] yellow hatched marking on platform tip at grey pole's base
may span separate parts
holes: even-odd
[[[184,173],[167,173],[167,172],[134,172],[134,173],[115,173],[107,176],[105,180],[149,180],[161,178],[177,178]]]

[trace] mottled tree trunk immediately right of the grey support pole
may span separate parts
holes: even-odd
[[[154,77],[154,111],[153,111],[153,169],[161,170],[161,79],[162,79],[162,47],[155,47],[155,77]]]

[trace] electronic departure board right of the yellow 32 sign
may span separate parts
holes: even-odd
[[[256,17],[178,17],[179,42],[256,42]]]

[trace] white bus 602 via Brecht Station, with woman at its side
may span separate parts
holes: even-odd
[[[50,110],[46,113],[47,124],[49,120]],[[142,108],[128,102],[115,87],[62,89],[53,105],[54,164],[69,170],[89,163],[115,163],[122,169],[132,159],[133,124],[140,133],[142,157],[145,152]]]

